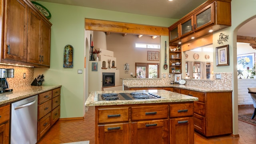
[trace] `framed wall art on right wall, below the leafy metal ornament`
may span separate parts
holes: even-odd
[[[216,66],[229,66],[228,45],[216,47]]]

